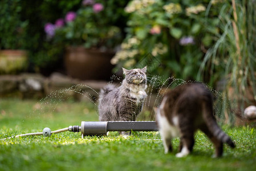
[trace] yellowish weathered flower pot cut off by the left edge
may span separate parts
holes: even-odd
[[[27,68],[25,50],[0,50],[0,74],[18,74]]]

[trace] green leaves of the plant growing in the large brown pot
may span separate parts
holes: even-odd
[[[93,6],[100,3],[103,9],[96,12]],[[64,42],[66,46],[113,49],[121,43],[125,18],[123,1],[96,1],[92,5],[81,5],[74,21],[56,28],[53,42]]]

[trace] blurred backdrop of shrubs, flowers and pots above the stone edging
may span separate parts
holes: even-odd
[[[196,80],[221,91],[221,113],[229,108],[242,117],[256,99],[254,7],[217,0],[1,1],[0,72],[109,81],[122,76],[121,67],[148,65],[149,78]],[[27,58],[8,62],[3,50],[25,50]],[[94,57],[74,61],[84,53]]]

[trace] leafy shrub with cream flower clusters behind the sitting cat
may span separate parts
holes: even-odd
[[[117,68],[148,64],[152,75],[196,80],[206,48],[218,33],[219,4],[210,1],[131,1],[127,37],[112,59]],[[151,56],[151,58],[148,58]],[[152,66],[151,62],[158,65]]]

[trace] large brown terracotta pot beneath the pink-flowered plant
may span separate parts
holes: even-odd
[[[109,80],[113,55],[84,47],[68,47],[64,59],[67,75],[82,80]]]

